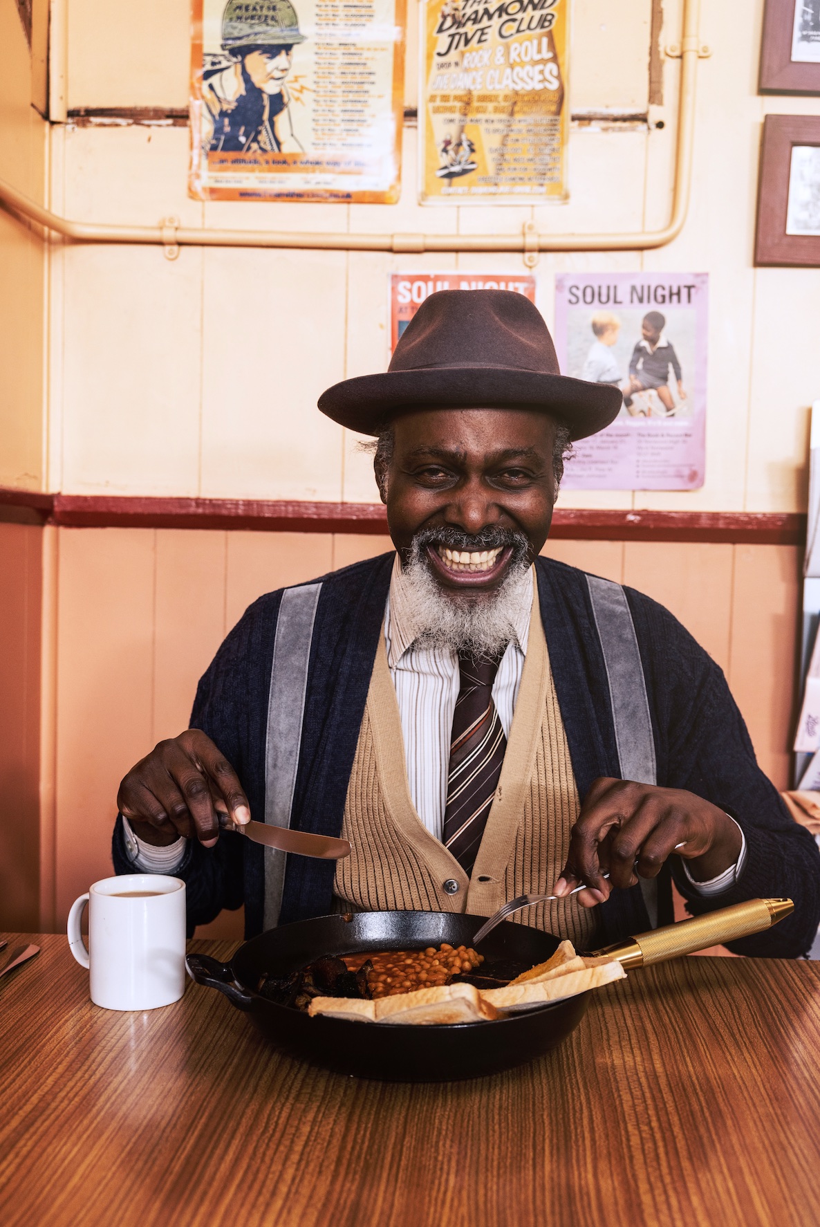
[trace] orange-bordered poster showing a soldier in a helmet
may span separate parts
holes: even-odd
[[[190,194],[395,204],[404,0],[194,0]]]

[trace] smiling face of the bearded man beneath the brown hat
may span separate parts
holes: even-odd
[[[397,418],[380,485],[402,562],[427,530],[423,555],[433,577],[445,590],[476,598],[500,587],[515,557],[510,545],[471,548],[482,530],[523,536],[532,562],[553,518],[554,438],[552,418],[531,410],[431,409]]]

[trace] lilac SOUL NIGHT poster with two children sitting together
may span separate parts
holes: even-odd
[[[561,372],[615,384],[620,413],[575,444],[568,490],[697,490],[705,475],[705,272],[559,274]]]

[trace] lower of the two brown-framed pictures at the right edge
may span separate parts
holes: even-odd
[[[820,267],[820,115],[766,115],[755,264]]]

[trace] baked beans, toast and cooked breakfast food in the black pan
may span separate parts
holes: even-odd
[[[266,978],[260,995],[311,1016],[358,1022],[442,1025],[489,1022],[563,1001],[625,978],[620,963],[577,955],[563,941],[544,963],[523,968],[485,961],[467,946],[376,951],[320,958],[283,979]]]

